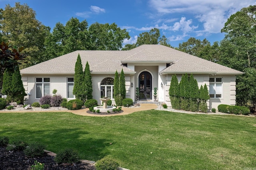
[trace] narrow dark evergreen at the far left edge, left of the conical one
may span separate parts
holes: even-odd
[[[10,87],[12,87],[12,74],[13,72],[10,70],[5,70],[3,76],[3,86],[2,86],[2,94],[6,96],[10,96],[11,91]]]

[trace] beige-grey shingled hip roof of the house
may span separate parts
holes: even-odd
[[[114,74],[123,68],[125,74],[135,74],[127,63],[168,63],[160,73],[243,74],[238,70],[216,64],[163,45],[141,45],[129,51],[78,50],[20,70],[21,74],[74,74],[80,54],[82,65],[90,65],[91,74]],[[135,64],[136,65],[136,64]]]

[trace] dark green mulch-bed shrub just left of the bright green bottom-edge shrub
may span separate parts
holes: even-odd
[[[73,149],[65,149],[60,151],[54,158],[57,163],[76,163],[79,160],[79,156]]]

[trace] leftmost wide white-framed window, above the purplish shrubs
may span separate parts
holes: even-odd
[[[36,78],[36,98],[41,98],[46,94],[50,95],[50,78],[37,77]]]

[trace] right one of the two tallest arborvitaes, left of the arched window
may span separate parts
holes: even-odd
[[[85,88],[85,99],[92,99],[92,76],[90,73],[90,66],[88,61],[86,62],[86,66],[84,69],[84,88]]]

